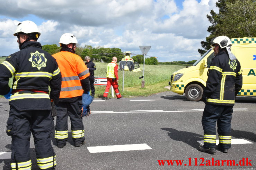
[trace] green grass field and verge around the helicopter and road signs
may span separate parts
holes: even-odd
[[[5,58],[0,57],[0,63]],[[96,70],[95,77],[106,77],[108,63],[95,62]],[[119,90],[124,97],[133,96],[149,96],[151,94],[168,91],[165,87],[168,86],[170,76],[174,71],[184,68],[185,66],[175,65],[145,65],[144,81],[145,86],[141,88],[141,81],[139,79],[143,75],[143,64],[140,65],[140,72],[124,71],[124,91],[123,89],[123,71],[118,71],[119,77]],[[12,85],[12,78],[9,81],[9,86]],[[95,98],[102,98],[105,92],[106,86],[95,86]],[[1,96],[2,97],[2,96]],[[111,91],[109,91],[108,97],[111,97]]]

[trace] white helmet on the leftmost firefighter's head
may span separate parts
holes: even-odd
[[[40,36],[40,32],[38,31],[38,28],[36,24],[33,21],[23,21],[20,22],[14,31],[14,36],[17,36],[18,33],[25,33],[32,37],[38,38]],[[33,33],[33,34],[31,34]]]

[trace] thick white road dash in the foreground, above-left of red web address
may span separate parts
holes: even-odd
[[[112,145],[112,146],[98,146],[87,147],[90,153],[100,152],[117,152],[117,151],[133,151],[133,150],[146,150],[152,149],[147,144],[124,144],[124,145]]]

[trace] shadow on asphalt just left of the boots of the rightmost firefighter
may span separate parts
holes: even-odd
[[[162,130],[166,130],[168,136],[176,141],[182,141],[187,143],[193,148],[198,149],[199,143],[198,140],[203,140],[203,135],[193,133],[193,132],[186,132],[186,131],[179,131],[173,128],[161,128]]]

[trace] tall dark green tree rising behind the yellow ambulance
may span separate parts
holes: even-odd
[[[211,48],[211,40],[217,36],[256,37],[255,0],[218,0],[216,7],[219,13],[211,10],[207,15],[212,25],[207,29],[210,35],[201,42],[203,49],[198,49],[201,55]]]

